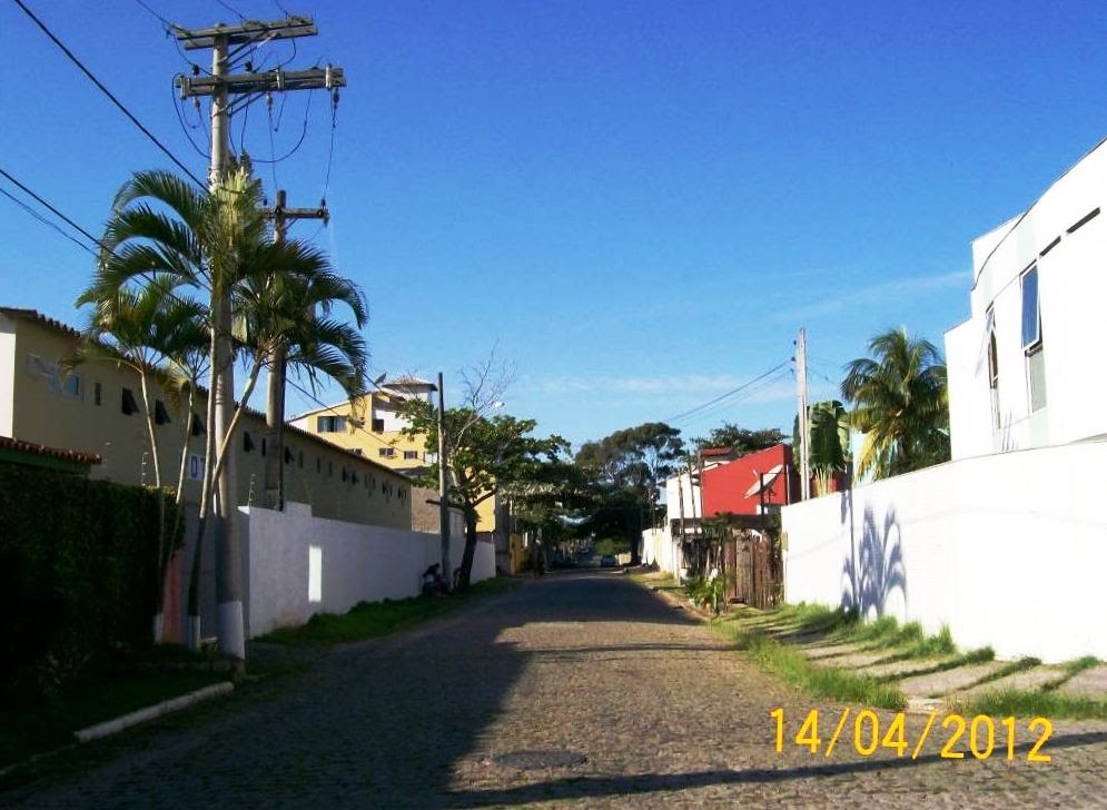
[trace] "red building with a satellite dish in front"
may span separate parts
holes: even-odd
[[[708,450],[703,455],[710,462],[712,454]],[[799,476],[792,467],[792,448],[787,444],[705,468],[701,486],[706,517],[723,512],[757,515],[761,514],[762,505],[784,505],[799,500]]]

